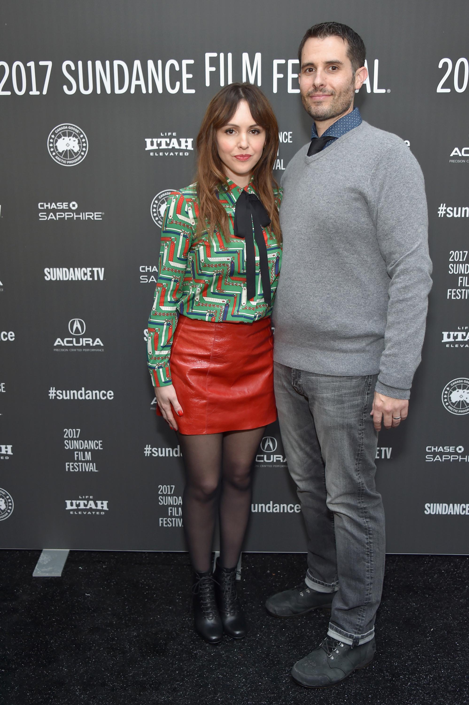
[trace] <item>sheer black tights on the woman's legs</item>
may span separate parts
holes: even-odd
[[[186,472],[182,521],[192,567],[211,568],[213,529],[220,515],[220,563],[235,568],[251,508],[251,465],[264,428],[224,434],[178,434]]]

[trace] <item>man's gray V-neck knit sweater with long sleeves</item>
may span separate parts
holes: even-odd
[[[282,178],[274,360],[379,373],[377,392],[408,399],[432,286],[420,166],[400,137],[365,122],[307,151]]]

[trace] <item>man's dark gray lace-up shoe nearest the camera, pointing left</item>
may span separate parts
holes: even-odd
[[[306,688],[326,688],[344,680],[358,668],[365,668],[375,656],[375,639],[360,646],[349,646],[326,637],[311,654],[292,668],[292,678]]]

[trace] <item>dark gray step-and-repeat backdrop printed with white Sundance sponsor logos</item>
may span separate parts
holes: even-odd
[[[356,104],[406,140],[430,214],[423,362],[376,455],[387,550],[469,553],[466,1],[4,0],[0,20],[0,546],[185,550],[180,447],[146,371],[165,203],[232,81],[273,104],[280,180],[311,130],[297,47],[337,20],[367,47]],[[305,546],[274,424],[245,548]]]

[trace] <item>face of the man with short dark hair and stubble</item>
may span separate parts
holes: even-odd
[[[315,121],[339,118],[351,108],[355,90],[366,76],[365,68],[354,73],[347,44],[340,37],[307,39],[299,73],[304,109]]]

